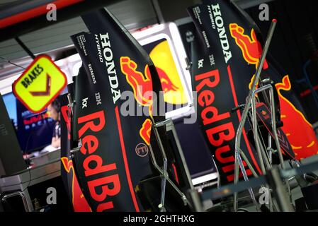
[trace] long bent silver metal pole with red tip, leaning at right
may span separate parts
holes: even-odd
[[[237,182],[239,182],[239,168],[241,168],[241,170],[242,170],[242,174],[244,176],[244,180],[245,181],[249,180],[248,177],[247,177],[246,170],[244,168],[243,162],[242,162],[241,155],[240,155],[240,152],[241,152],[241,138],[242,138],[244,125],[245,125],[245,122],[246,122],[246,119],[247,119],[247,116],[248,116],[248,113],[249,113],[249,108],[251,107],[252,95],[253,95],[254,90],[256,90],[257,83],[259,83],[259,78],[261,76],[261,71],[262,71],[262,68],[263,68],[264,61],[266,59],[268,48],[269,48],[269,46],[271,44],[271,39],[273,37],[273,32],[274,32],[274,30],[276,28],[276,23],[277,23],[277,20],[272,20],[271,28],[269,29],[268,37],[266,39],[266,44],[265,44],[265,47],[264,47],[263,52],[261,54],[261,59],[259,61],[259,65],[258,65],[257,70],[256,70],[256,76],[255,76],[254,81],[253,81],[253,83],[251,85],[251,90],[249,91],[249,95],[248,95],[247,100],[246,100],[246,105],[245,105],[243,113],[242,113],[242,119],[239,122],[239,128],[237,129],[237,135],[236,135],[236,138],[235,138],[234,184],[237,184]],[[253,194],[252,189],[249,189],[249,193],[251,195],[252,201],[254,203],[256,203],[256,208],[257,208],[257,206],[259,206],[259,205],[257,205],[257,202],[256,202],[256,199],[255,199],[255,196]],[[233,205],[233,208],[234,208],[235,212],[237,212],[237,208],[238,208],[237,201],[238,201],[237,193],[235,192],[234,193],[234,205]]]

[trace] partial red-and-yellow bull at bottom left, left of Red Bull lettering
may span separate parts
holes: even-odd
[[[87,203],[81,188],[79,187],[79,182],[77,181],[74,166],[72,160],[69,160],[67,157],[61,158],[62,164],[65,171],[68,174],[72,174],[72,204],[74,212],[91,212],[89,203]]]

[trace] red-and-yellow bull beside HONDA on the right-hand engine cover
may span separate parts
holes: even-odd
[[[229,25],[229,30],[237,43],[237,46],[242,50],[245,61],[248,64],[254,64],[257,68],[263,49],[261,43],[256,38],[254,29],[251,30],[251,37],[245,35],[244,28],[237,25],[237,23],[231,23]],[[264,62],[263,69],[268,69],[267,61]]]

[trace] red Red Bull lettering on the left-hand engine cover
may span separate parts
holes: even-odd
[[[97,212],[114,208],[114,197],[121,191],[121,183],[116,162],[106,162],[98,155],[98,133],[106,127],[105,112],[93,112],[77,119],[78,136],[81,138],[80,154],[84,158],[81,167],[84,169],[88,196],[98,203]],[[96,136],[95,136],[96,135]],[[92,162],[94,162],[92,164]],[[108,174],[108,176],[105,176]],[[92,177],[93,176],[93,177]],[[103,186],[105,189],[99,189]]]

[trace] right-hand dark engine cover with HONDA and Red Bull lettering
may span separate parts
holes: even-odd
[[[232,113],[231,109],[246,102],[261,48],[249,54],[259,44],[255,37],[244,36],[244,30],[234,25],[233,22],[245,29],[250,27],[228,1],[203,1],[189,8],[188,13],[197,31],[191,43],[191,73],[193,90],[197,91],[198,122],[219,169],[220,183],[229,184],[234,180],[235,135],[242,119],[241,111]],[[246,52],[245,58],[242,51]],[[261,174],[259,158],[246,129],[241,149],[256,174]],[[248,164],[243,163],[247,176],[251,176]]]

